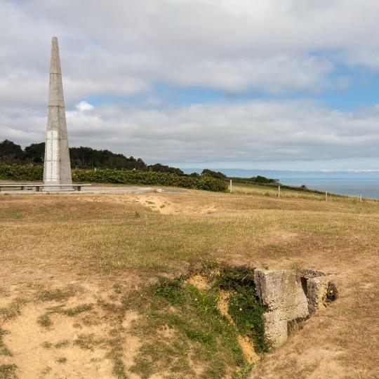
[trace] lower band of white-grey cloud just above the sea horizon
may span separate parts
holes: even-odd
[[[249,101],[179,109],[81,107],[67,111],[72,146],[86,145],[151,162],[291,161],[375,157],[379,105],[332,111],[317,102]],[[44,140],[46,117],[2,115],[4,138]]]

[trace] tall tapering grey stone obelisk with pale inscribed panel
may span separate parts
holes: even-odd
[[[48,187],[48,185],[55,186]],[[72,190],[65,99],[63,98],[62,74],[60,72],[57,37],[53,37],[51,41],[50,84],[48,88],[48,124],[46,129],[44,161],[44,190]]]

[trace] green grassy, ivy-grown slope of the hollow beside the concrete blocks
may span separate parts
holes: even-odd
[[[211,262],[185,276],[161,277],[136,296],[133,307],[145,317],[135,333],[145,342],[132,371],[142,378],[165,369],[189,373],[194,370],[186,359],[190,355],[204,378],[224,378],[231,366],[237,367],[229,373],[233,378],[244,377],[252,362],[239,338],[248,338],[258,354],[270,350],[262,324],[266,307],[255,293],[253,274],[250,267]],[[196,286],[193,277],[201,277],[206,286]],[[222,293],[227,293],[227,314],[220,310]]]

